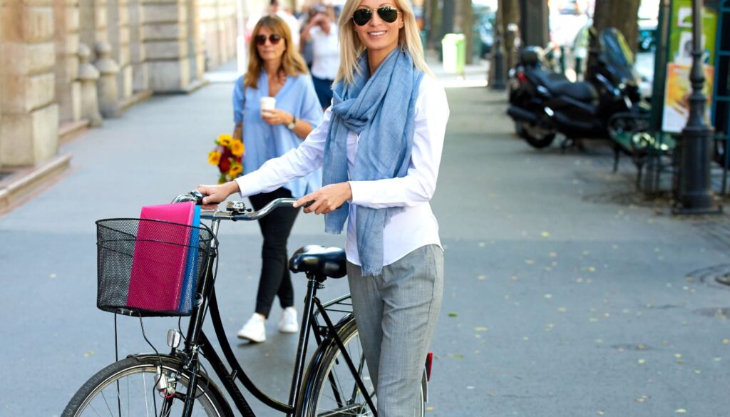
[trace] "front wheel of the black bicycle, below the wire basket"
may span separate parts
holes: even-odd
[[[162,375],[169,378],[174,394],[161,397],[155,384]],[[176,383],[175,375],[180,378]],[[231,416],[223,394],[206,375],[199,375],[193,416]],[[61,417],[81,416],[181,416],[188,375],[183,364],[169,356],[131,356],[93,375],[72,397]]]

